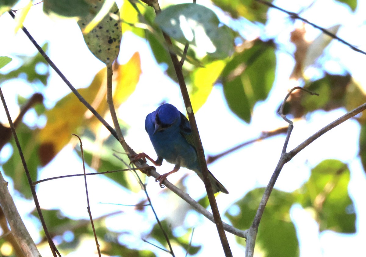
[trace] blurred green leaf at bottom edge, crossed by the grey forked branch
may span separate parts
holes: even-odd
[[[240,210],[237,215],[225,213],[235,228],[245,230],[250,227],[264,190],[265,188],[256,188],[236,202],[235,205]],[[263,253],[263,256],[299,256],[299,243],[290,219],[293,203],[294,195],[273,189],[259,224],[255,246],[256,251]],[[245,239],[237,238],[237,241],[244,246],[246,244]]]

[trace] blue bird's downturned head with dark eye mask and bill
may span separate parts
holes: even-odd
[[[164,103],[155,111],[155,129],[154,134],[158,131],[170,128],[173,124],[177,124],[180,118],[180,112],[173,105]],[[178,124],[179,125],[179,124]]]

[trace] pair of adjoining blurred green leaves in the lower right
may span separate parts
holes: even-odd
[[[257,245],[265,256],[299,256],[299,243],[290,208],[299,203],[315,215],[319,230],[355,233],[356,214],[347,188],[350,170],[338,160],[328,159],[311,169],[309,180],[294,192],[273,189],[258,229]],[[226,212],[234,227],[245,230],[253,222],[265,188],[255,188],[234,205],[240,212]],[[281,235],[281,236],[279,236]],[[237,238],[245,246],[245,240]]]

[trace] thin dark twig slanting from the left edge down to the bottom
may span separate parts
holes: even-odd
[[[8,107],[7,107],[6,103],[5,103],[5,99],[4,99],[4,95],[3,95],[3,91],[1,90],[1,87],[0,87],[0,98],[1,98],[1,102],[3,102],[4,110],[5,110],[6,116],[8,118],[8,122],[9,122],[9,125],[10,125],[11,133],[13,134],[16,147],[18,148],[18,153],[19,153],[20,159],[22,160],[22,164],[23,164],[23,167],[24,167],[26,176],[27,176],[27,180],[28,180],[28,183],[29,183],[29,186],[30,186],[30,190],[31,190],[32,195],[33,195],[34,204],[36,205],[36,209],[37,209],[38,215],[40,216],[41,224],[42,224],[43,230],[45,232],[45,236],[47,238],[47,241],[49,243],[49,246],[51,248],[51,252],[52,252],[52,254],[53,254],[54,257],[56,257],[57,254],[61,257],[61,254],[59,253],[59,251],[57,250],[55,244],[52,241],[51,235],[49,234],[48,229],[47,229],[47,226],[46,226],[46,223],[44,221],[44,218],[43,218],[43,215],[42,215],[42,211],[41,211],[41,207],[40,207],[40,203],[38,202],[38,197],[37,197],[37,194],[36,194],[36,189],[33,186],[33,181],[32,181],[32,178],[30,176],[30,173],[29,173],[29,170],[28,170],[28,167],[27,167],[27,163],[26,163],[25,158],[24,158],[24,155],[23,155],[22,148],[20,147],[19,139],[18,139],[18,136],[16,135],[15,128],[14,128],[14,124],[13,124],[13,121],[11,120]]]

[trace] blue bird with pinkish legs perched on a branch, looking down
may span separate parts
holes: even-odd
[[[167,176],[177,172],[180,167],[193,170],[203,181],[191,126],[186,116],[173,105],[165,103],[159,106],[156,111],[147,114],[145,129],[158,158],[154,161],[145,153],[141,153],[137,154],[134,160],[142,158],[146,161],[145,158],[147,158],[154,165],[161,166],[163,159],[165,159],[167,162],[175,164],[171,172],[165,173],[156,179],[156,181],[159,181],[160,187],[163,187],[163,182]],[[209,179],[214,193],[219,191],[225,194],[229,193],[211,172],[209,172]]]

